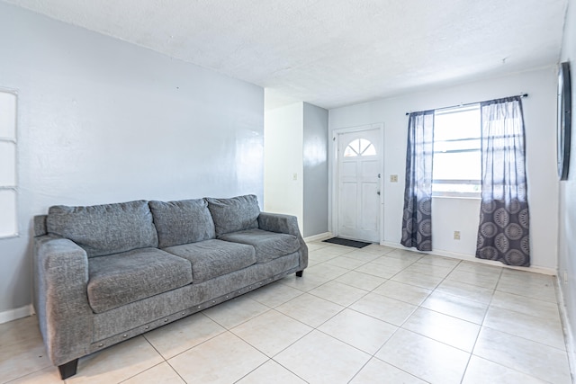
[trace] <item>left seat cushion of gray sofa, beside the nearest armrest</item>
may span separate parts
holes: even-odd
[[[192,282],[188,260],[157,248],[93,257],[88,262],[88,301],[95,313],[183,287]]]

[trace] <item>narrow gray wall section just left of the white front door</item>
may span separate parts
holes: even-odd
[[[328,232],[328,111],[303,107],[304,237]]]

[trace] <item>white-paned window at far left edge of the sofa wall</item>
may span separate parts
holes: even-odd
[[[16,181],[16,95],[0,91],[0,237],[18,235]]]

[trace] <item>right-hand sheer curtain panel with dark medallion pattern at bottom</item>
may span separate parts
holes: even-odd
[[[530,265],[524,118],[520,96],[481,103],[482,207],[476,257]]]

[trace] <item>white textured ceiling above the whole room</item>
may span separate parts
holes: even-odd
[[[569,0],[4,0],[327,109],[555,64]]]

